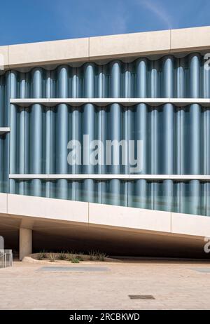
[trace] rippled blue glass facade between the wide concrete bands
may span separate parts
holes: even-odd
[[[80,106],[10,104],[10,98],[69,97],[112,97],[116,102],[102,107],[91,100]],[[0,137],[1,191],[210,216],[210,107],[141,102],[127,107],[118,102],[126,97],[210,98],[210,71],[202,55],[192,53],[1,75],[0,126],[10,127]],[[9,180],[9,174],[132,174],[131,166],[122,163],[70,166],[67,144],[78,140],[83,146],[83,135],[104,145],[107,140],[141,140],[139,177],[209,175],[209,180]]]

